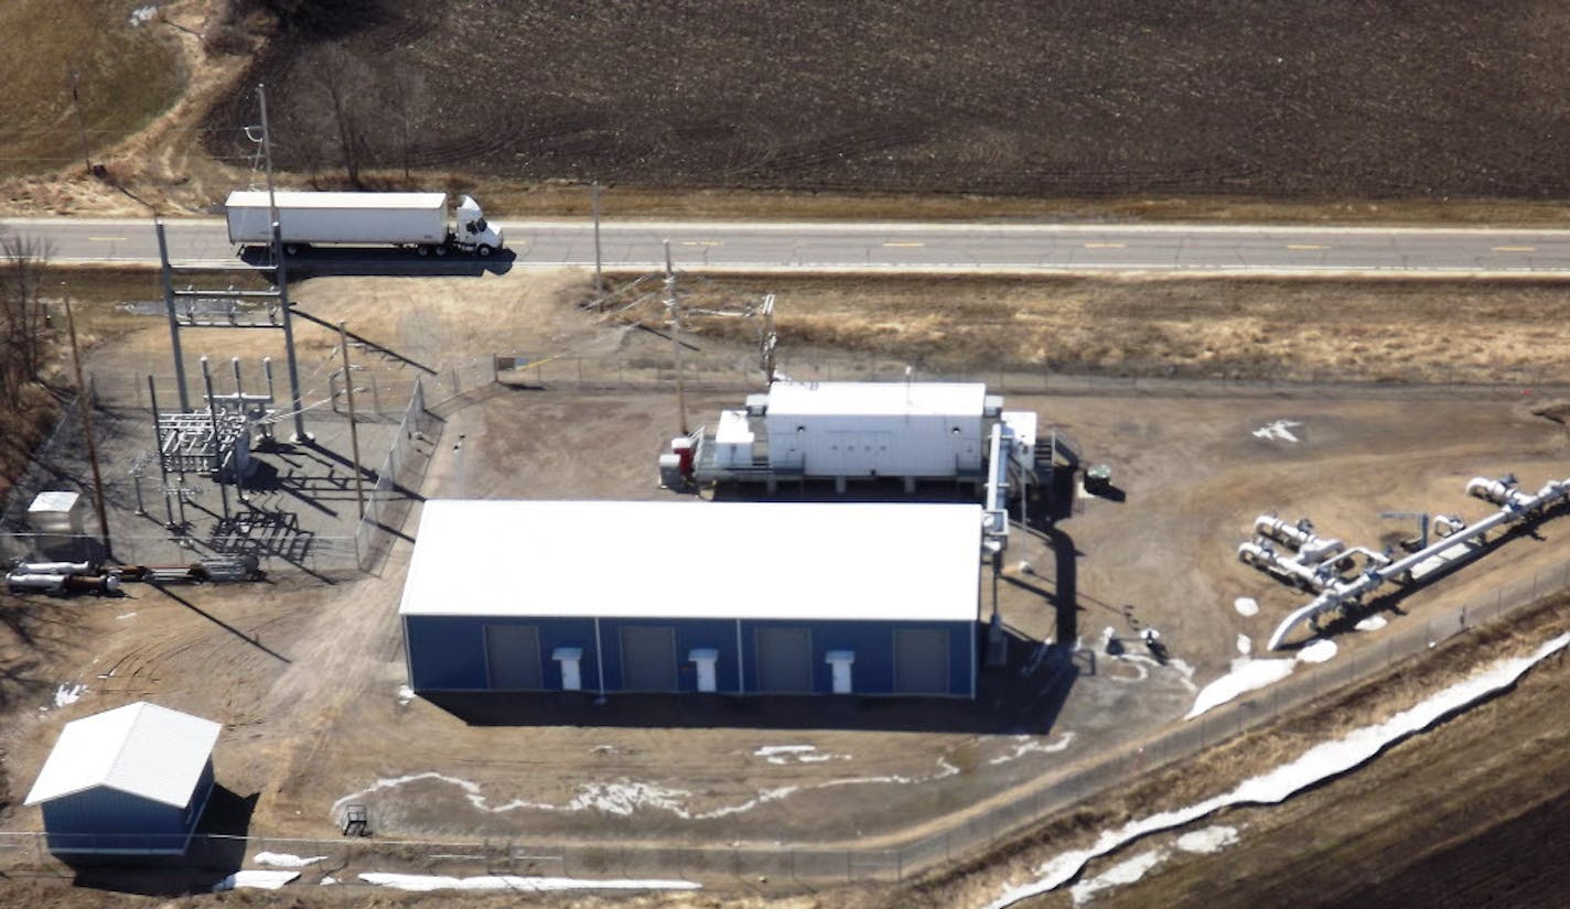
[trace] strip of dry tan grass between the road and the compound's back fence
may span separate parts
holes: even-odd
[[[991,371],[1281,381],[1557,385],[1570,289],[1553,281],[725,276],[685,297],[777,295],[782,356]],[[650,303],[645,317],[658,320]],[[700,334],[750,338],[735,319]]]

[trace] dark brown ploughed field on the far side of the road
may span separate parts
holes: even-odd
[[[319,57],[366,160],[526,182],[1031,196],[1562,196],[1570,19],[1283,3],[498,0],[361,5],[273,41],[284,166],[338,179]],[[405,113],[407,111],[407,113]],[[250,151],[239,96],[212,148]],[[405,124],[410,127],[405,130]]]

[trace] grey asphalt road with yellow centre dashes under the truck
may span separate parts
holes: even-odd
[[[0,226],[52,243],[57,262],[157,264],[151,221],[39,218]],[[515,265],[592,265],[586,221],[502,221]],[[223,221],[168,221],[179,262],[229,261]],[[615,221],[608,268],[793,272],[1182,272],[1281,275],[1570,273],[1570,231],[1210,225],[920,225]]]

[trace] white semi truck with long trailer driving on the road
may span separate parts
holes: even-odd
[[[225,203],[229,242],[267,246],[273,242],[267,190],[236,190]],[[502,248],[499,228],[485,221],[473,196],[458,199],[447,217],[447,193],[319,193],[276,192],[278,232],[284,253],[309,246],[397,246],[421,256],[449,251],[490,256]]]

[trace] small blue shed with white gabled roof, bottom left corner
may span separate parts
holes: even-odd
[[[68,722],[27,794],[57,856],[181,856],[223,727],[137,702]]]

